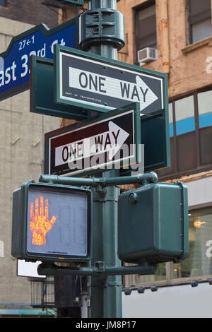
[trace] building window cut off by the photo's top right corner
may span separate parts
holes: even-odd
[[[198,42],[212,35],[211,0],[188,0],[189,39]]]

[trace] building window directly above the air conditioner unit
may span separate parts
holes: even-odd
[[[136,47],[157,48],[155,1],[149,1],[148,7],[141,7],[136,10]],[[150,6],[151,5],[151,6]]]

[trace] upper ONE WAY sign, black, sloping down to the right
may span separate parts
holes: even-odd
[[[139,102],[141,114],[165,107],[166,74],[70,47],[55,52],[57,102],[98,112]]]

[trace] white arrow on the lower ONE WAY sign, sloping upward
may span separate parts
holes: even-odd
[[[105,152],[108,152],[108,157],[112,160],[129,134],[112,121],[108,123],[108,129],[102,134],[83,138],[55,148],[55,166]]]

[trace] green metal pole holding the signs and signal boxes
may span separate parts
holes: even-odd
[[[88,10],[98,8],[117,8],[117,0],[90,0]],[[88,52],[110,59],[117,59],[117,47],[110,43],[95,43]],[[119,176],[119,170],[105,172],[105,177]],[[105,191],[93,189],[93,259],[104,261],[108,266],[121,266],[117,257],[117,200],[119,186],[111,186]],[[91,277],[88,280],[90,307],[88,317],[122,317],[122,277],[111,275],[107,278]]]

